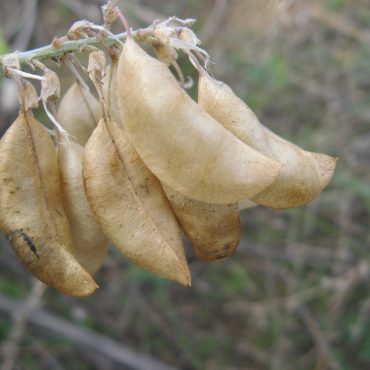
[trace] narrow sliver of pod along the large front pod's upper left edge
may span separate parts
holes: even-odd
[[[118,60],[112,57],[112,63],[106,68],[103,78],[103,94],[112,121],[123,127],[117,102],[117,67]]]

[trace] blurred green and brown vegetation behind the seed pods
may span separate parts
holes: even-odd
[[[135,28],[174,14],[197,18],[215,76],[278,134],[339,157],[337,172],[306,207],[244,211],[236,255],[192,262],[191,288],[149,275],[111,249],[93,296],[44,293],[14,369],[139,368],[112,354],[124,356],[125,348],[151,363],[142,369],[154,369],[153,358],[185,370],[369,368],[369,0],[119,3]],[[2,0],[0,53],[48,44],[73,21],[99,21],[99,14],[94,0]],[[67,88],[71,76],[60,73]],[[195,77],[188,63],[184,73]],[[0,132],[16,112],[14,89],[0,80]],[[35,283],[3,237],[0,244],[4,359],[19,324],[14,313]]]

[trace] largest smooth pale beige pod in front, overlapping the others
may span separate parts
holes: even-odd
[[[276,161],[248,147],[179,86],[167,66],[128,39],[118,63],[122,121],[162,183],[207,203],[234,203],[271,185]]]

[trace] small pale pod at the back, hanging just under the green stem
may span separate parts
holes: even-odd
[[[57,120],[81,145],[85,145],[101,117],[98,100],[75,82],[60,101]]]

